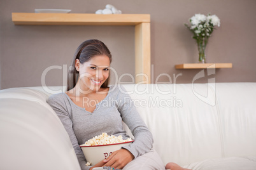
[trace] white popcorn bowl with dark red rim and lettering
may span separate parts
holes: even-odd
[[[130,145],[132,141],[126,141],[123,143],[114,143],[108,145],[96,145],[96,146],[82,146],[83,154],[87,162],[90,162],[92,166],[97,164],[103,159],[107,159],[113,152],[120,150],[122,147]]]

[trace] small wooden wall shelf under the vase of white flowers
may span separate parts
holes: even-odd
[[[229,69],[232,63],[183,63],[175,65],[175,69]]]

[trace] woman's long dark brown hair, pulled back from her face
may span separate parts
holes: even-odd
[[[111,62],[112,56],[110,50],[103,42],[97,39],[89,39],[87,41],[82,42],[82,44],[78,46],[73,61],[71,63],[71,66],[73,66],[73,68],[69,69],[68,73],[67,91],[73,89],[76,86],[76,82],[78,81],[79,72],[76,70],[75,67],[76,59],[78,59],[79,62],[83,64],[84,62],[88,62],[92,57],[97,55],[106,55],[108,56],[108,58],[110,58]],[[101,88],[108,87],[108,80],[109,77],[103,83]]]

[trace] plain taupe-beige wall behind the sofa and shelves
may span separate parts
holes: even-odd
[[[34,12],[35,8],[71,9],[71,13],[94,13],[113,4],[123,13],[151,15],[153,82],[191,83],[201,70],[176,70],[178,63],[196,63],[197,46],[183,23],[195,13],[216,14],[221,25],[213,32],[206,49],[206,61],[231,62],[232,69],[217,69],[210,77],[195,82],[256,81],[255,0],[1,0],[0,3],[0,89],[41,86],[41,75],[50,66],[62,69],[46,74],[46,85],[61,86],[77,46],[86,39],[100,39],[113,54],[112,67],[118,78],[134,75],[134,27],[132,26],[28,26],[14,25],[12,12]],[[181,75],[182,74],[182,75]],[[111,79],[113,83],[114,79]],[[122,82],[131,81],[124,77]]]

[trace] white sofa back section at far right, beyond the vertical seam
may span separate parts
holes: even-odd
[[[222,157],[256,155],[255,84],[255,82],[216,84],[223,141]]]

